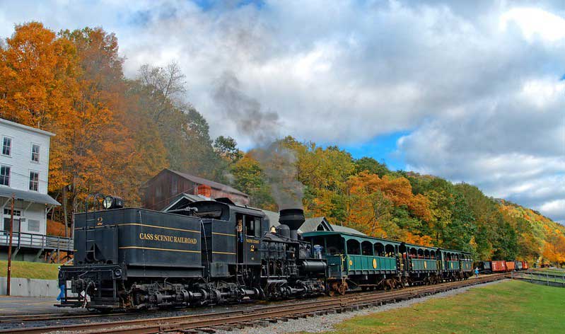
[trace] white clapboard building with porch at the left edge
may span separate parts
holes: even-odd
[[[45,260],[69,248],[69,238],[47,236],[47,212],[59,205],[47,195],[54,135],[0,118],[0,258],[7,258],[12,198],[13,260]]]

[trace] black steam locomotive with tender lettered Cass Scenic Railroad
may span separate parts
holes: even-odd
[[[301,209],[276,230],[259,209],[228,199],[175,212],[122,208],[75,215],[74,265],[62,266],[57,306],[147,309],[324,294],[327,264],[298,240]]]

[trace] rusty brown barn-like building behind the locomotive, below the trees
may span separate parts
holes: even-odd
[[[201,195],[209,198],[228,197],[239,205],[249,205],[249,195],[205,178],[165,168],[144,185],[144,207],[162,210],[180,194]]]

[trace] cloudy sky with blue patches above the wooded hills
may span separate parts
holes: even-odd
[[[565,1],[5,1],[14,23],[101,26],[124,68],[176,61],[244,149],[226,74],[280,134],[440,175],[565,223]],[[455,4],[453,4],[455,3]]]

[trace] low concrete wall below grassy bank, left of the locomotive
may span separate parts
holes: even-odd
[[[6,277],[0,277],[0,294],[6,295]],[[11,296],[57,297],[57,280],[12,277]]]

